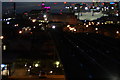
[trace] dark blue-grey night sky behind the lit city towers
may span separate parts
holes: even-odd
[[[53,12],[58,12],[61,9],[64,9],[65,4],[63,2],[46,2],[46,6],[50,6]],[[67,3],[66,5],[74,4],[75,2]],[[76,2],[77,3],[77,2]],[[13,11],[12,2],[3,2],[2,3],[3,13]],[[22,13],[25,11],[30,11],[32,9],[41,9],[41,2],[16,2],[16,12]]]

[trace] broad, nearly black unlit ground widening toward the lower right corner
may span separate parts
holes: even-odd
[[[52,30],[66,80],[119,80],[120,40]]]

